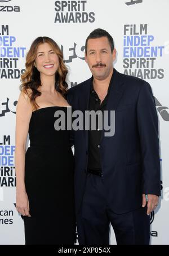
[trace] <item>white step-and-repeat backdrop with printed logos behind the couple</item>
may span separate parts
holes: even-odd
[[[161,201],[150,218],[151,244],[169,244],[169,1],[0,0],[0,244],[24,244],[15,208],[15,118],[25,55],[39,36],[53,38],[69,68],[69,87],[91,76],[84,43],[95,28],[114,38],[121,73],[150,83],[159,118]],[[44,188],[45,189],[45,188]],[[116,244],[111,229],[111,244]]]

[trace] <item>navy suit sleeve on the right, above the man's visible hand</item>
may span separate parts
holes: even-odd
[[[161,195],[158,116],[149,83],[141,85],[137,100],[137,123],[141,144],[143,193]]]

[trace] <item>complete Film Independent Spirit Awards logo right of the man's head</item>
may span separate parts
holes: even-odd
[[[148,24],[125,24],[123,37],[124,74],[141,79],[163,79],[164,69],[155,68],[164,54],[163,45],[155,45],[155,37],[148,33]]]

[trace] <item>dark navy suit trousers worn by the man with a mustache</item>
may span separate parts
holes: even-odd
[[[114,213],[113,206],[106,200],[104,178],[88,173],[81,208],[84,244],[108,245],[112,224],[118,245],[148,245],[150,219],[146,210],[140,206],[128,213]]]

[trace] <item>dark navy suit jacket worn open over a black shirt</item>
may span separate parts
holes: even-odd
[[[100,142],[108,202],[122,214],[142,206],[142,194],[160,195],[158,117],[149,83],[113,69],[106,110],[115,111],[115,134]],[[74,110],[88,110],[92,78],[68,90]],[[88,161],[88,131],[74,131],[75,207],[81,211]]]

